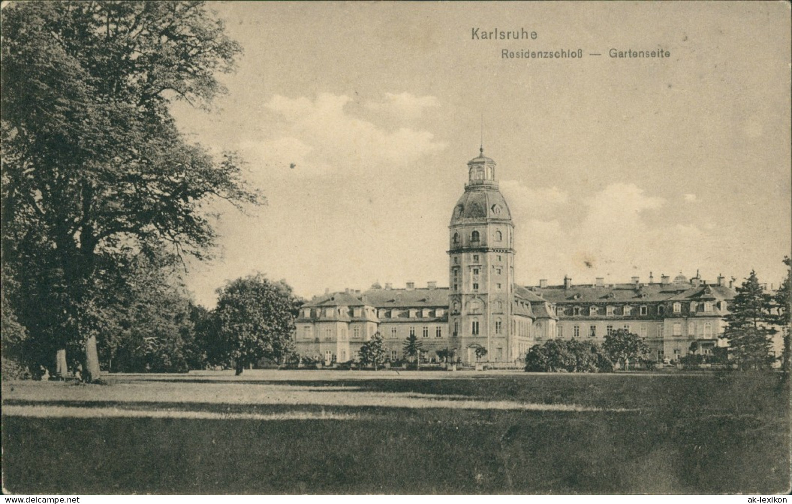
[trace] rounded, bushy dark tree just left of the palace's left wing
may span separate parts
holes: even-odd
[[[213,322],[204,335],[210,362],[234,361],[237,374],[261,358],[281,361],[291,353],[301,300],[286,282],[249,275],[218,290]]]

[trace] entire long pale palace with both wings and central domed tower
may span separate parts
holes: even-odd
[[[703,353],[717,345],[722,317],[735,291],[723,277],[707,283],[697,274],[660,282],[519,286],[515,283],[515,224],[498,189],[496,163],[484,156],[467,163],[468,181],[448,225],[448,285],[407,283],[394,289],[345,290],[314,297],[295,321],[296,351],[325,362],[348,362],[375,332],[390,360],[403,358],[409,335],[421,339],[425,358],[453,350],[465,363],[518,362],[547,339],[602,342],[626,328],[645,338],[654,360],[676,360],[692,342]],[[519,224],[519,223],[518,223]],[[481,356],[485,349],[485,354]]]

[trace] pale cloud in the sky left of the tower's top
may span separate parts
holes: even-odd
[[[347,96],[330,93],[314,100],[276,95],[265,107],[285,119],[284,127],[272,138],[242,142],[240,148],[265,165],[270,160],[295,163],[295,172],[314,174],[400,167],[445,147],[429,131],[407,127],[390,131],[353,116],[345,110],[349,101]]]

